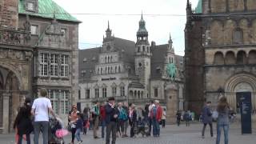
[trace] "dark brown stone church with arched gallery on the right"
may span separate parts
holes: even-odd
[[[189,108],[226,95],[239,112],[237,92],[249,91],[256,108],[256,1],[187,1],[185,77]]]

